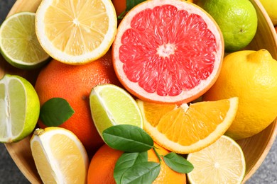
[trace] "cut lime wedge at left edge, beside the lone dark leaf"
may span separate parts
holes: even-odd
[[[40,102],[33,86],[21,76],[0,80],[0,142],[18,142],[36,127]]]

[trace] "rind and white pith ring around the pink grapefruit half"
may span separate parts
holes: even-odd
[[[194,13],[201,16],[205,22],[207,23],[207,29],[212,30],[215,39],[217,40],[217,52],[214,54],[214,69],[210,76],[207,79],[202,80],[198,86],[192,88],[189,91],[182,91],[178,96],[159,96],[157,93],[148,93],[141,86],[139,86],[138,82],[131,82],[126,74],[124,74],[124,64],[120,60],[119,56],[119,48],[121,47],[121,38],[124,35],[125,31],[131,28],[131,21],[137,13],[146,8],[153,8],[156,6],[162,6],[165,4],[171,4],[178,9],[185,9],[188,13]],[[129,11],[124,19],[121,21],[118,27],[118,31],[116,33],[116,38],[114,40],[114,44],[112,46],[113,50],[113,63],[114,69],[116,71],[116,75],[121,81],[121,84],[134,96],[140,98],[141,100],[146,100],[150,102],[158,102],[158,103],[188,103],[192,100],[197,99],[202,96],[216,81],[219,76],[219,71],[222,66],[222,60],[224,57],[224,41],[222,32],[219,29],[217,23],[214,19],[207,14],[202,8],[195,6],[195,4],[187,3],[185,1],[173,1],[173,0],[152,0],[152,1],[144,1],[143,3],[135,6]]]

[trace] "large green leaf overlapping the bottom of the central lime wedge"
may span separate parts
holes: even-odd
[[[103,139],[113,149],[142,152],[153,147],[153,139],[141,127],[114,125],[103,131]]]

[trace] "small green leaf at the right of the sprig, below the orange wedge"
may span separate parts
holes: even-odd
[[[187,161],[183,156],[173,152],[163,156],[163,161],[165,161],[168,167],[178,173],[190,173],[193,170],[192,163]]]

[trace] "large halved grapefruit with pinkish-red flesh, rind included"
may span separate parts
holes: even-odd
[[[114,69],[126,90],[162,103],[186,103],[205,93],[224,55],[215,21],[180,0],[149,0],[132,8],[112,48]]]

